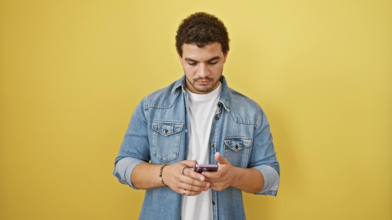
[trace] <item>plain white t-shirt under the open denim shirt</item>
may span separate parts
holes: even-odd
[[[189,109],[189,149],[187,160],[209,164],[209,139],[222,84],[208,94],[195,94],[185,88]],[[196,196],[181,196],[181,220],[212,220],[212,191]]]

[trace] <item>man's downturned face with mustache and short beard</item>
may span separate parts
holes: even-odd
[[[193,44],[182,45],[180,61],[185,73],[186,87],[196,94],[207,94],[218,87],[227,54],[220,43],[210,43],[200,48]]]

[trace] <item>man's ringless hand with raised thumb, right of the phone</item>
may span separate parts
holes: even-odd
[[[215,160],[218,162],[218,171],[203,171],[201,174],[206,178],[205,180],[210,183],[210,189],[222,191],[223,189],[232,186],[236,178],[236,168],[231,166],[229,160],[220,155],[219,152],[215,153]]]

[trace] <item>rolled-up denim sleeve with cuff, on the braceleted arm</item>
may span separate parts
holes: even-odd
[[[136,106],[118,156],[114,161],[113,176],[122,184],[136,188],[131,181],[133,169],[142,162],[150,160],[147,117],[144,109],[144,99]]]

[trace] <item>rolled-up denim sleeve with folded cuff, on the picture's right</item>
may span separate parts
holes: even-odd
[[[272,195],[276,197],[280,181],[280,167],[272,142],[270,124],[260,107],[260,120],[256,124],[253,138],[252,153],[248,168],[260,171],[264,178],[263,188],[256,195]]]

